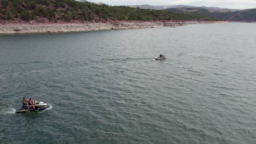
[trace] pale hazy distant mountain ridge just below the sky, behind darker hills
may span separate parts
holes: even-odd
[[[191,5],[158,5],[158,6],[154,6],[154,5],[148,5],[148,4],[144,4],[144,5],[127,5],[128,7],[131,8],[141,8],[141,9],[155,9],[155,10],[162,10],[162,9],[168,9],[168,8],[203,8],[203,9],[207,9],[210,12],[214,12],[214,11],[219,11],[219,12],[230,12],[230,11],[238,11],[240,9],[227,9],[227,8],[218,8],[218,7],[194,7]]]

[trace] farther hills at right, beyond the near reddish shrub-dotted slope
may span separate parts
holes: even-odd
[[[187,14],[197,20],[256,22],[256,9],[238,10],[218,7],[193,7],[190,5],[129,5],[129,7],[159,9],[177,14]]]

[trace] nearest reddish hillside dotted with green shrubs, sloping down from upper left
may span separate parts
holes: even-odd
[[[196,20],[202,17],[172,11],[109,6],[75,0],[0,0],[5,21],[71,22],[106,20]]]

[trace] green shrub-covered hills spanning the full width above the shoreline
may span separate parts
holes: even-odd
[[[0,20],[105,21],[105,20],[228,20],[256,21],[256,10],[220,13],[203,8],[166,10],[109,6],[75,0],[0,0]]]

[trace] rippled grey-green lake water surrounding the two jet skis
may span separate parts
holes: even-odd
[[[255,46],[255,23],[0,35],[0,143],[254,144]]]

